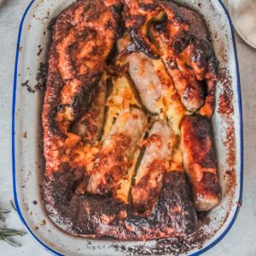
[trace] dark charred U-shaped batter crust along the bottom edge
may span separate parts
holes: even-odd
[[[83,179],[80,170],[62,166],[61,171],[52,173],[44,182],[49,217],[73,235],[144,240],[184,236],[195,230],[196,214],[183,172],[166,174],[157,204],[145,218],[134,215],[130,206],[110,197],[76,195],[75,188]]]

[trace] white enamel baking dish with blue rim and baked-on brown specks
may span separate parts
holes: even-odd
[[[220,68],[225,68],[230,73],[229,93],[233,95],[231,105],[234,113],[228,117],[218,113],[219,97],[224,93],[227,81],[218,82],[217,108],[212,125],[223,200],[210,212],[210,222],[204,227],[206,232],[213,234],[212,237],[205,241],[201,248],[189,251],[191,255],[198,255],[215,246],[227,234],[241,206],[243,160],[241,90],[236,42],[230,16],[224,4],[218,0],[177,2],[196,9],[204,16],[212,35]],[[44,95],[38,91],[29,93],[21,83],[26,80],[31,85],[37,83],[35,78],[39,63],[46,62],[47,58],[49,22],[70,3],[73,3],[73,0],[32,0],[20,22],[15,61],[12,125],[15,205],[29,233],[41,246],[55,255],[131,255],[136,252],[138,254],[137,247],[140,246],[143,246],[144,253],[152,253],[152,248],[157,247],[157,241],[102,241],[69,236],[49,220],[41,201],[40,185],[43,181],[44,159],[40,115]],[[38,45],[43,48],[41,55],[37,55]],[[231,131],[229,130],[230,122],[234,128]],[[230,137],[235,137],[231,148],[224,143]],[[235,160],[233,166],[228,163],[231,153],[234,154]],[[164,247],[164,245],[161,246]]]

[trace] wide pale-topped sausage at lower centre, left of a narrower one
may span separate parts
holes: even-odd
[[[119,115],[103,143],[96,168],[90,176],[88,192],[115,196],[122,177],[131,166],[146,125],[144,113],[137,108]]]

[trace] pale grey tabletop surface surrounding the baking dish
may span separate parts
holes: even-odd
[[[0,8],[0,206],[9,207],[13,198],[11,174],[11,108],[15,48],[21,15],[29,0],[8,0]],[[225,1],[226,2],[226,1]],[[241,212],[224,240],[205,255],[256,255],[256,50],[236,38],[241,69],[244,113],[244,190]],[[26,113],[24,113],[26,114]],[[22,229],[15,212],[9,214],[10,227]],[[0,255],[49,255],[30,236],[18,238],[22,247],[0,241]]]

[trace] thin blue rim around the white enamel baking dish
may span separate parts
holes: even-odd
[[[49,253],[52,253],[54,255],[59,255],[59,256],[64,256],[64,254],[57,253],[54,249],[51,247],[48,247],[46,244],[44,244],[43,241],[41,241],[38,236],[36,236],[32,230],[30,229],[29,225],[26,224],[26,220],[23,217],[21,211],[20,211],[20,206],[18,202],[18,197],[17,197],[17,191],[16,191],[16,180],[15,180],[15,103],[16,103],[16,87],[17,87],[17,72],[18,72],[18,63],[19,63],[19,54],[20,54],[20,38],[21,38],[21,32],[23,28],[23,23],[26,18],[26,15],[29,11],[29,9],[32,7],[32,4],[36,0],[32,0],[31,3],[27,6],[22,19],[20,21],[20,28],[19,28],[19,33],[18,33],[18,39],[17,39],[17,48],[16,48],[16,56],[15,56],[15,77],[14,77],[14,91],[13,91],[13,105],[12,105],[12,171],[13,171],[13,189],[14,189],[14,199],[15,199],[15,206],[18,212],[18,215],[20,217],[21,222],[25,225],[26,230],[32,235],[32,237],[39,243],[40,246],[44,247]],[[235,54],[235,60],[236,60],[236,83],[237,83],[237,95],[238,95],[238,105],[239,105],[239,119],[240,119],[240,195],[239,195],[239,201],[238,203],[240,204],[242,202],[242,188],[243,188],[243,118],[242,118],[242,104],[241,104],[241,83],[240,83],[240,73],[239,73],[239,64],[238,64],[238,58],[237,58],[237,51],[236,51],[236,39],[235,39],[235,32],[233,28],[232,21],[230,19],[230,14],[226,7],[224,6],[224,3],[222,0],[218,0],[222,8],[224,9],[225,14],[227,15],[227,18],[230,22],[230,30],[232,34],[232,41],[233,41],[233,48],[234,48],[234,54]],[[195,253],[189,254],[190,256],[196,256],[200,255],[202,253],[207,252],[209,249],[214,247],[216,244],[218,244],[219,241],[221,241],[224,236],[227,235],[227,233],[230,231],[231,227],[236,221],[236,218],[238,216],[240,207],[236,207],[236,212],[234,213],[233,218],[230,221],[230,224],[228,227],[223,231],[223,233],[218,236],[214,241],[212,241],[207,247],[202,248],[201,250],[198,250]]]

